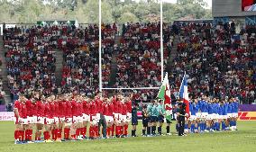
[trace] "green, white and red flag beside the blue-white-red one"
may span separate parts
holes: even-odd
[[[164,101],[165,118],[171,121],[172,106],[171,106],[171,98],[170,98],[170,90],[169,90],[168,73],[166,73],[163,79],[163,82],[160,86],[158,98]]]

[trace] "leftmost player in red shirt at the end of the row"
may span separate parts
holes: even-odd
[[[23,141],[24,131],[22,125],[22,99],[23,94],[19,94],[19,100],[14,102],[14,117],[15,117],[15,130],[14,130],[14,142],[19,143]]]

